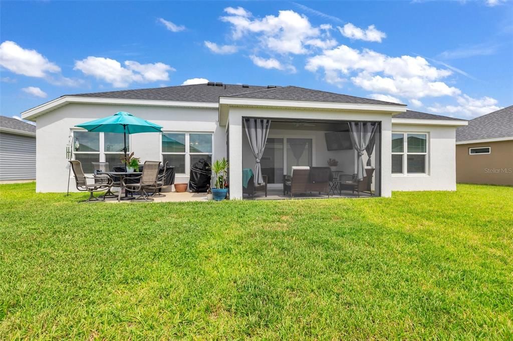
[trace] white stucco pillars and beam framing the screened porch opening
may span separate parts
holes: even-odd
[[[391,115],[386,113],[372,112],[347,112],[335,110],[293,110],[273,108],[230,108],[228,113],[229,139],[230,139],[230,198],[242,199],[242,167],[243,150],[232,146],[243,145],[243,117],[266,117],[266,118],[297,118],[317,120],[354,120],[354,121],[377,121],[381,122],[382,132],[382,155],[391,155]],[[381,160],[382,178],[381,195],[391,196],[391,157],[382,157]]]

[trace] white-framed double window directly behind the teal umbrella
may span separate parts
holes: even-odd
[[[73,131],[73,159],[82,163],[86,174],[93,173],[92,162],[108,162],[109,168],[123,166],[123,134]],[[127,136],[127,151],[130,151],[130,138]]]

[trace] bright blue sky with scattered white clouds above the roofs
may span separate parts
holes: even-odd
[[[194,78],[466,119],[513,104],[513,5],[502,0],[2,2],[0,15],[4,116],[64,94]]]

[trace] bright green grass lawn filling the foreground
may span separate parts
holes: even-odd
[[[511,339],[513,188],[77,204],[0,186],[0,339]]]

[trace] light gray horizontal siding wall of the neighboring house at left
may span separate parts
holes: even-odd
[[[35,179],[35,137],[0,133],[0,181]]]

